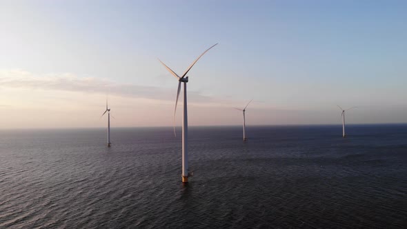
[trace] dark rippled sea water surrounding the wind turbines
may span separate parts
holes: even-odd
[[[407,125],[347,132],[0,130],[0,228],[406,228]]]

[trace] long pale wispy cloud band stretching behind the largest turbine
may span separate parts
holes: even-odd
[[[38,75],[24,70],[0,70],[0,87],[97,94],[106,94],[108,92],[121,97],[164,101],[172,101],[175,97],[175,89],[169,90],[167,88],[137,86],[130,83],[117,83],[97,77],[79,77],[70,73]],[[174,96],[170,97],[170,94]],[[188,97],[195,102],[212,103],[215,101],[211,97],[194,91],[189,91]]]

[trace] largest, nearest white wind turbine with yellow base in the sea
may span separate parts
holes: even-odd
[[[186,74],[189,72],[189,70],[194,66],[195,63],[205,54],[208,52],[211,48],[213,48],[215,45],[211,46],[208,48],[205,52],[203,52],[194,62],[191,63],[191,65],[187,68],[186,72],[183,73],[181,77],[177,73],[175,73],[173,70],[168,68],[163,61],[159,59],[159,61],[163,64],[164,67],[170,72],[175,78],[178,80],[178,90],[177,90],[177,99],[175,100],[175,109],[174,109],[174,120],[173,120],[173,126],[174,126],[174,135],[175,133],[175,112],[177,111],[177,103],[178,103],[178,97],[179,97],[179,92],[181,92],[181,83],[183,83],[183,122],[182,122],[182,182],[183,183],[188,183],[188,177],[190,176],[190,172],[188,169],[188,112],[187,112],[187,102],[186,102],[186,83],[188,83],[188,77],[186,77]]]

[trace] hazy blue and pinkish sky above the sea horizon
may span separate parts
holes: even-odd
[[[407,1],[0,0],[0,128],[407,123]],[[182,101],[182,98],[181,98]],[[181,106],[176,123],[181,125]]]

